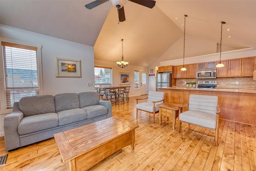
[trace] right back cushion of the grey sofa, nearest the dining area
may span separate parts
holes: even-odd
[[[79,93],[80,108],[99,104],[99,95],[96,92]]]

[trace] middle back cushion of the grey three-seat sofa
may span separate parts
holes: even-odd
[[[57,94],[54,98],[56,112],[80,108],[79,97],[76,93]]]

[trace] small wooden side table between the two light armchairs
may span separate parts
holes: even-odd
[[[162,124],[162,116],[173,117],[173,130],[175,130],[176,118],[181,113],[181,110],[187,104],[178,104],[178,103],[171,103],[171,102],[164,102],[162,104],[158,104],[159,106],[159,124]]]

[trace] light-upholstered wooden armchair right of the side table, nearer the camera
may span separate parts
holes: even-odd
[[[178,129],[181,122],[194,124],[215,131],[215,145],[218,145],[219,113],[217,96],[191,94],[189,96],[188,111],[179,114]]]

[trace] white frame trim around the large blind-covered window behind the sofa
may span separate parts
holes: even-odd
[[[8,114],[12,112],[12,109],[6,108],[6,92],[5,92],[5,77],[4,77],[4,58],[2,52],[2,41],[10,42],[11,44],[19,44],[25,46],[37,47],[37,72],[38,72],[38,88],[39,94],[43,94],[43,83],[42,83],[42,58],[41,58],[41,45],[29,44],[24,41],[18,41],[8,38],[0,38],[0,114]]]

